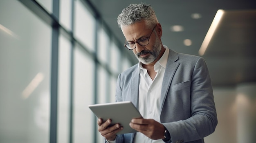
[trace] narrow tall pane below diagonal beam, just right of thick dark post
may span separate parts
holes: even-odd
[[[58,143],[69,142],[70,124],[70,41],[59,37],[58,67]]]

